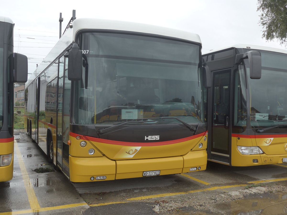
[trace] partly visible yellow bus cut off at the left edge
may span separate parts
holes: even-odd
[[[14,82],[25,83],[28,61],[13,53],[13,21],[0,16],[0,182],[13,177],[13,95]]]

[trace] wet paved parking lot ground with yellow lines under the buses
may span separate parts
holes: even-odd
[[[8,214],[285,214],[287,164],[71,183],[52,169],[24,130],[15,130],[13,179],[0,182],[0,215]],[[53,170],[53,169],[52,169]]]

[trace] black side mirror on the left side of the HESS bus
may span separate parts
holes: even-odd
[[[79,81],[82,78],[82,58],[83,54],[77,43],[74,43],[68,56],[68,79]]]

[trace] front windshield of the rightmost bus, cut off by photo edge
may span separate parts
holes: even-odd
[[[287,54],[262,51],[261,79],[249,79],[251,127],[286,124]]]

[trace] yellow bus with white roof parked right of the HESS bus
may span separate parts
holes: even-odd
[[[203,54],[208,160],[231,166],[287,162],[287,51],[237,44]]]

